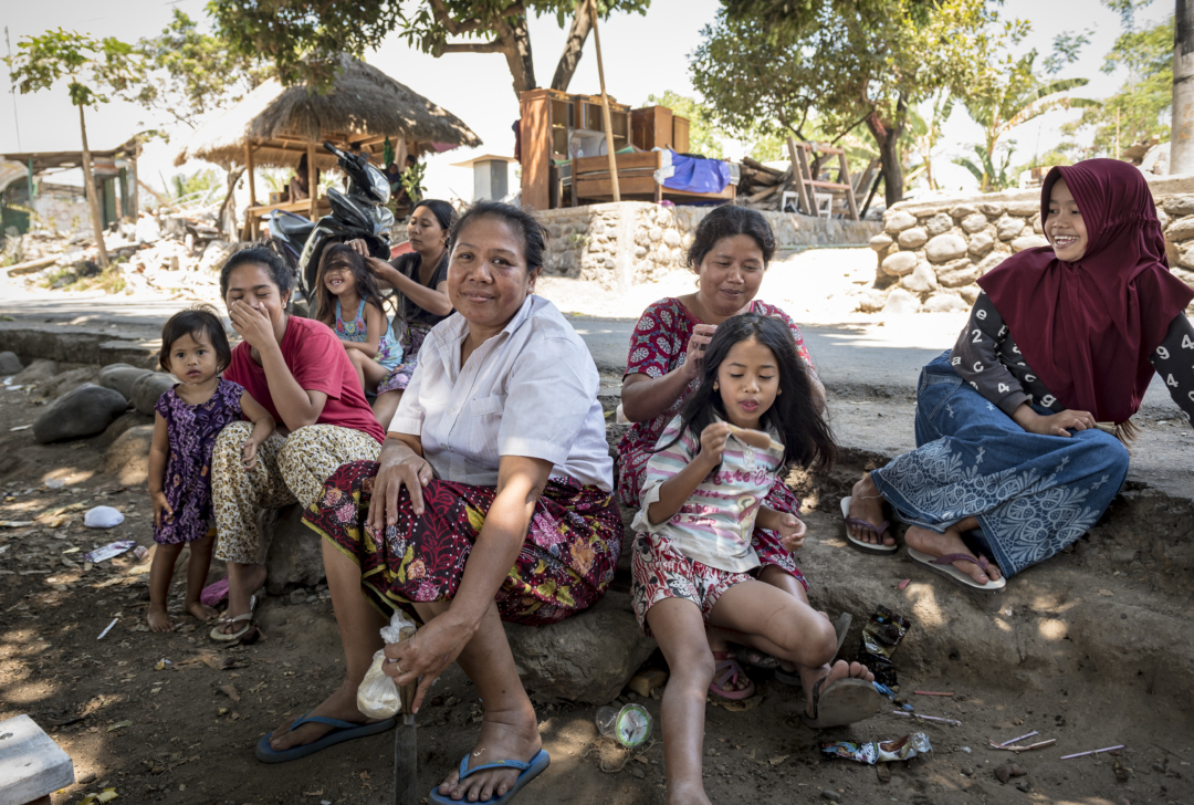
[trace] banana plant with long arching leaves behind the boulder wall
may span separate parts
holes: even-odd
[[[995,167],[995,152],[1009,131],[1055,110],[1091,109],[1101,105],[1097,100],[1075,98],[1070,94],[1072,90],[1089,84],[1088,79],[1042,79],[1038,74],[1039,72],[1045,72],[1046,75],[1055,74],[1061,66],[1077,59],[1077,49],[1070,47],[1072,41],[1067,36],[1061,35],[1054,39],[1054,54],[1046,59],[1044,70],[1036,69],[1039,54],[1035,49],[1018,59],[1004,56],[1001,62],[996,62],[984,72],[979,84],[965,98],[966,111],[983,127],[983,156],[979,160],[983,166],[979,188],[983,192],[995,189],[998,184],[989,168]],[[1058,42],[1061,42],[1063,47],[1058,48]],[[1004,162],[1010,159],[1009,150]]]

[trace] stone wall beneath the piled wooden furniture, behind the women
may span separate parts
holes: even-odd
[[[713,207],[621,202],[538,213],[552,238],[547,276],[596,282],[608,290],[650,282],[685,268],[697,225]],[[813,219],[763,213],[780,248],[862,245],[882,229],[878,221]]]

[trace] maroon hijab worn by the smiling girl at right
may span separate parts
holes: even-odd
[[[1041,186],[1042,222],[1058,179],[1087,226],[1085,256],[1065,263],[1051,246],[1028,248],[978,284],[1065,407],[1089,411],[1097,422],[1126,422],[1152,380],[1149,357],[1194,290],[1169,272],[1139,168],[1114,159],[1054,167]]]

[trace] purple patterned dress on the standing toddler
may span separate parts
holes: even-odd
[[[240,420],[240,398],[244,393],[244,386],[221,379],[211,399],[199,405],[184,402],[173,388],[158,398],[154,411],[166,420],[170,442],[161,486],[174,516],[171,522],[154,527],[154,542],[193,542],[208,533],[208,520],[211,517],[211,448],[224,425]]]

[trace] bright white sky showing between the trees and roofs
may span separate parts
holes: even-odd
[[[57,0],[53,4],[7,4],[2,21],[13,48],[30,35],[70,20],[70,27],[97,37],[116,36],[125,42],[154,36],[171,19],[172,10],[180,8],[195,19],[207,21],[204,0],[122,0],[119,4],[96,4],[82,0]],[[690,54],[701,42],[701,29],[710,24],[719,8],[718,0],[653,0],[647,14],[615,14],[601,24],[605,82],[609,94],[632,106],[642,105],[648,94],[672,90],[694,94],[688,74]],[[1171,8],[1167,0],[1155,2],[1137,14],[1137,23],[1159,20]],[[1085,76],[1090,84],[1083,88],[1087,97],[1103,98],[1122,82],[1122,74],[1100,72],[1104,54],[1120,33],[1118,14],[1098,0],[1041,2],[1040,0],[1005,0],[1001,17],[1021,18],[1032,23],[1032,33],[1021,49],[1035,47],[1046,55],[1053,37],[1064,31],[1093,29],[1091,43],[1082,57],[1061,73],[1061,78]],[[564,47],[567,31],[556,26],[554,17],[530,20],[535,74],[541,85],[550,82],[555,63]],[[570,86],[570,91],[597,94],[597,62],[592,38]],[[365,60],[430,98],[463,119],[484,141],[478,150],[456,149],[429,159],[426,186],[429,197],[472,197],[472,172],[451,167],[451,162],[473,154],[513,154],[511,123],[518,117],[518,103],[511,87],[505,59],[499,54],[450,54],[433,59],[406,47],[398,37],[389,37]],[[5,84],[7,75],[0,70]],[[1027,161],[1035,153],[1050,150],[1059,140],[1058,127],[1079,112],[1053,112],[1017,129],[1013,137],[1018,143],[1016,162]],[[168,128],[164,115],[124,103],[101,105],[87,110],[88,141],[92,148],[111,148],[142,129]],[[19,142],[18,142],[19,127]],[[181,168],[173,166],[178,147],[189,130],[178,124],[170,143],[160,141],[146,146],[140,162],[141,177],[161,189],[178,172],[192,173],[211,167],[193,161]],[[958,105],[947,122],[943,142],[935,155],[935,170],[947,189],[973,190],[973,177],[949,160],[970,154],[970,145],[981,141],[980,129]],[[21,96],[16,93],[0,100],[0,153],[17,150],[68,150],[80,147],[78,112],[70,106],[66,87]],[[731,154],[733,155],[733,154]],[[56,182],[69,182],[59,177]],[[81,180],[78,183],[81,184]],[[513,184],[513,178],[511,177]]]

